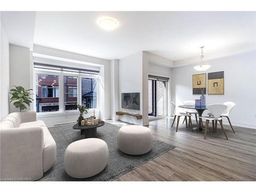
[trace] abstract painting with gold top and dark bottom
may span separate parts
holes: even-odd
[[[193,75],[193,95],[206,94],[206,73]]]

